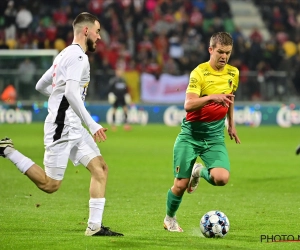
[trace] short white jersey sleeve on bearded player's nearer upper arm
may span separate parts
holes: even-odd
[[[66,65],[66,81],[73,80],[80,82],[82,71],[85,69],[87,57],[83,54],[74,54],[69,57]]]

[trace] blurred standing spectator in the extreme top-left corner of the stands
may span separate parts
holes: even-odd
[[[16,39],[16,15],[17,10],[15,9],[14,1],[7,3],[7,8],[4,11],[4,32],[5,40]]]

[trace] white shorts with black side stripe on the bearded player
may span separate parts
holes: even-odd
[[[69,159],[75,166],[81,163],[86,167],[90,160],[101,155],[93,137],[83,126],[45,123],[44,145],[45,172],[55,180],[63,179]]]

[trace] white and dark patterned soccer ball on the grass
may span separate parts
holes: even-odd
[[[209,211],[200,220],[200,230],[206,238],[222,238],[229,231],[229,220],[221,211]]]

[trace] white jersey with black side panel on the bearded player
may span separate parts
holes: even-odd
[[[77,127],[80,118],[70,107],[65,94],[66,81],[80,83],[80,95],[84,102],[90,82],[90,64],[87,55],[78,44],[62,50],[55,58],[52,67],[46,72],[52,76],[52,93],[48,101],[48,116],[45,122],[66,124]]]

